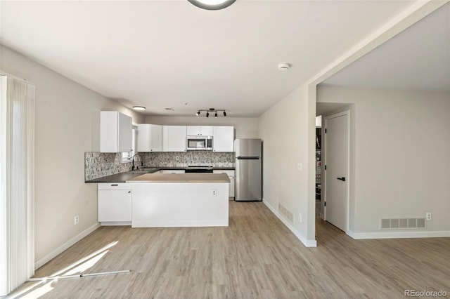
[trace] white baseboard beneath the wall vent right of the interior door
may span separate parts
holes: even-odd
[[[406,239],[406,238],[445,238],[450,237],[450,231],[432,232],[352,232],[347,234],[353,239]]]

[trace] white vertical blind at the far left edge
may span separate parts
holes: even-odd
[[[34,86],[1,76],[0,295],[34,274]]]

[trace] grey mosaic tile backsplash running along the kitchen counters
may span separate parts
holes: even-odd
[[[144,152],[139,153],[145,166],[150,167],[187,167],[189,165],[214,167],[234,167],[233,152]],[[122,163],[120,153],[84,153],[84,180],[94,180],[106,175],[131,171],[131,163]],[[136,157],[136,165],[140,158]]]

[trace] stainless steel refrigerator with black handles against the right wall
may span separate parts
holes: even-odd
[[[234,140],[236,201],[262,201],[261,139]]]

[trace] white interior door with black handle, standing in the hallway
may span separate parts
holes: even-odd
[[[347,232],[349,113],[325,118],[325,220]]]

